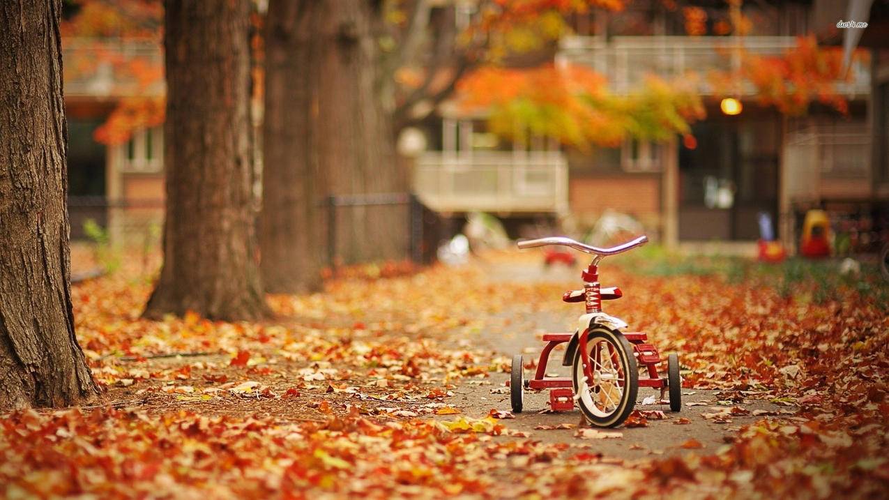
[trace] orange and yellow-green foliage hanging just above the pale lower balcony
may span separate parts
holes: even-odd
[[[463,109],[488,115],[493,133],[514,141],[546,136],[581,150],[628,137],[663,141],[704,117],[700,98],[684,85],[649,77],[638,93],[617,96],[605,77],[573,65],[485,67],[461,80],[458,94]]]

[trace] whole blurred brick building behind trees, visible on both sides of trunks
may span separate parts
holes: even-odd
[[[840,11],[848,5],[745,2],[743,14],[753,21],[749,34],[687,36],[681,6],[671,10],[668,4],[637,0],[623,12],[574,16],[574,35],[543,60],[588,66],[608,78],[613,93],[626,94],[648,74],[670,79],[687,70],[729,70],[741,51],[780,55],[797,45],[797,36],[821,36],[825,20],[843,19],[837,4]],[[682,3],[688,5],[708,13],[709,28],[728,10],[724,0]],[[875,12],[885,11],[885,1],[874,5]],[[805,117],[785,117],[758,105],[749,85],[728,96],[701,79],[708,117],[693,125],[696,143],[628,140],[581,153],[547,137],[504,142],[487,131],[484,115],[445,104],[426,123],[424,136],[413,137],[426,149],[414,162],[414,190],[443,214],[480,210],[522,222],[571,215],[589,226],[613,209],[636,216],[670,244],[756,239],[757,214],[765,212],[789,241],[807,207],[856,210],[889,196],[889,55],[881,45],[889,36],[881,36],[885,28],[877,30],[877,20],[865,30],[873,36],[861,41],[870,61],[854,59],[852,78],[837,83],[849,101],[847,117],[818,104]],[[833,36],[840,44],[841,36]],[[162,67],[161,47],[132,39],[66,39],[64,63],[72,237],[84,237],[84,222],[92,219],[117,241],[156,238],[164,207],[163,127],[138,128],[108,146],[95,135],[121,102],[163,95],[163,79],[146,85],[132,71]],[[725,97],[741,101],[741,114],[722,112]]]

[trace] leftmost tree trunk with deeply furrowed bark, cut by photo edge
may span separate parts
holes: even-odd
[[[60,12],[0,5],[0,409],[98,394],[71,309]]]

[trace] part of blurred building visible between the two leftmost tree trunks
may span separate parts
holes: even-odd
[[[116,242],[156,240],[164,218],[163,126],[137,128],[129,140],[105,144],[97,130],[128,100],[164,95],[163,78],[140,69],[163,68],[156,42],[66,38],[62,57],[68,118],[68,212],[71,238],[86,238],[96,222]],[[138,121],[139,106],[127,109]]]

